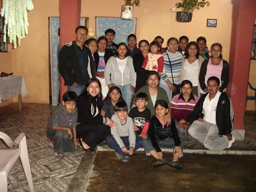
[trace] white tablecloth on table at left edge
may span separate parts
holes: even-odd
[[[0,77],[0,103],[1,100],[11,99],[20,94],[22,98],[27,96],[27,88],[22,76]]]

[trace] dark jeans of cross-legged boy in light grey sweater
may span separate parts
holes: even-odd
[[[130,148],[129,137],[127,136],[127,137],[120,137],[120,138],[122,139],[126,148],[129,150],[129,148]],[[129,156],[129,154],[122,152],[120,146],[117,144],[117,142],[115,141],[115,139],[112,135],[108,135],[108,137],[105,139],[105,141],[111,149],[115,149],[116,152],[121,153],[123,156]],[[142,142],[143,142],[143,139],[141,137],[136,136],[134,151],[136,151],[138,148],[140,148]]]

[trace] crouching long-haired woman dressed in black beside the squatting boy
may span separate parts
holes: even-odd
[[[110,127],[115,126],[114,121],[101,116],[101,105],[101,83],[98,79],[91,78],[85,91],[77,99],[76,134],[86,151],[94,151],[95,147],[110,134]]]

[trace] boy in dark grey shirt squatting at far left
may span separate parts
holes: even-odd
[[[54,155],[63,156],[63,152],[74,151],[81,145],[76,140],[77,94],[73,91],[64,93],[62,103],[52,112],[47,126],[49,146],[54,148]],[[74,141],[73,141],[74,136]],[[72,140],[71,140],[72,139]]]

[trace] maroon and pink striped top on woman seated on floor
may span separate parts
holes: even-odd
[[[189,114],[193,111],[197,101],[198,97],[192,93],[188,102],[184,100],[182,93],[175,95],[170,104],[172,118],[177,121],[180,121],[181,119],[186,120]]]

